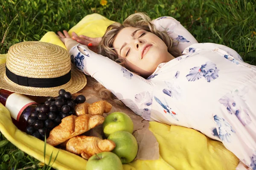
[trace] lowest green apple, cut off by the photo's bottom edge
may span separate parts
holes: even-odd
[[[90,157],[86,164],[86,170],[122,170],[122,162],[112,152],[97,153]]]

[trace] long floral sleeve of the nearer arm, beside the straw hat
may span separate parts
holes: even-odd
[[[144,119],[150,119],[150,81],[128,71],[108,57],[94,53],[86,45],[75,45],[69,53],[72,63],[80,71],[95,78],[132,111]]]

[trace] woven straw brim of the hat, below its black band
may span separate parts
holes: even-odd
[[[0,65],[0,88],[7,91],[12,91],[19,94],[26,94],[30,96],[58,96],[60,89],[74,94],[80,91],[87,84],[85,74],[79,71],[75,66],[71,67],[71,79],[64,85],[53,88],[34,88],[23,85],[17,85],[6,77],[6,63]]]

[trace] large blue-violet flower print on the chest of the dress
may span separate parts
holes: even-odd
[[[195,81],[204,77],[207,82],[211,82],[218,78],[218,71],[219,69],[216,67],[216,64],[208,61],[201,65],[201,67],[191,68],[189,74],[186,75],[186,78],[188,81]]]

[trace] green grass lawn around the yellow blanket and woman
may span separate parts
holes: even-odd
[[[143,11],[152,19],[175,17],[198,42],[226,45],[256,65],[255,0],[108,0],[107,6],[99,2],[0,0],[0,54],[17,42],[40,40],[47,31],[69,30],[87,14],[99,13],[122,22]],[[7,142],[0,134],[0,169],[40,168],[38,160]]]

